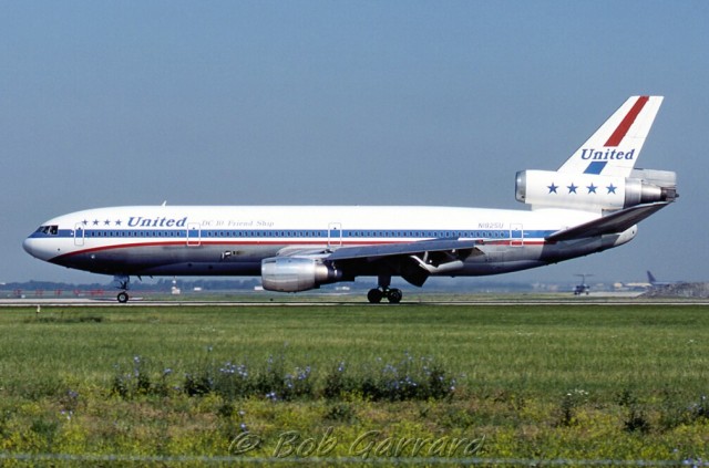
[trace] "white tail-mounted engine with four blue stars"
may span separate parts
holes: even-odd
[[[515,184],[517,201],[537,208],[615,211],[640,204],[674,201],[677,175],[667,170],[634,169],[629,177],[523,170]]]

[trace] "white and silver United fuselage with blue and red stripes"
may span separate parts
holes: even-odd
[[[114,275],[258,275],[261,261],[342,247],[473,239],[484,252],[451,275],[540,267],[625,243],[620,235],[546,242],[598,218],[564,209],[451,207],[135,206],[76,211],[47,221],[24,241],[32,256]],[[356,275],[377,274],[359,267]]]

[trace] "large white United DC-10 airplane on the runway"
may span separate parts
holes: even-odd
[[[629,97],[557,170],[523,170],[531,209],[430,206],[126,206],[59,216],[23,242],[50,263],[130,278],[260,275],[300,292],[376,277],[369,302],[402,299],[391,278],[506,273],[621,246],[674,202],[676,174],[635,169],[662,96]]]

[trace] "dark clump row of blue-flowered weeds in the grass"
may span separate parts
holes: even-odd
[[[125,366],[116,365],[111,393],[125,399],[140,395],[167,396],[172,368],[155,375],[155,372],[150,372],[148,362],[134,356],[129,372]],[[280,354],[269,356],[261,366],[234,361],[216,364],[205,360],[184,374],[182,387],[175,385],[173,388],[191,397],[215,394],[227,401],[259,397],[291,402],[360,395],[373,402],[404,402],[448,398],[455,391],[455,378],[431,357],[415,358],[409,353],[398,363],[383,364],[378,358],[357,372],[338,361],[323,377],[318,378],[312,366],[288,366]]]

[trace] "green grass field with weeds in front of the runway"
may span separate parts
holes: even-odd
[[[0,449],[702,464],[708,325],[702,305],[3,309]]]

